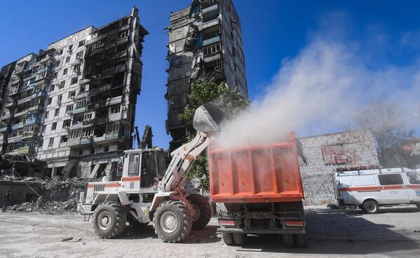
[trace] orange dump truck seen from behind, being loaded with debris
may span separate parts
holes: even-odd
[[[217,203],[224,243],[276,233],[287,246],[306,247],[297,140],[209,151],[210,197]]]

